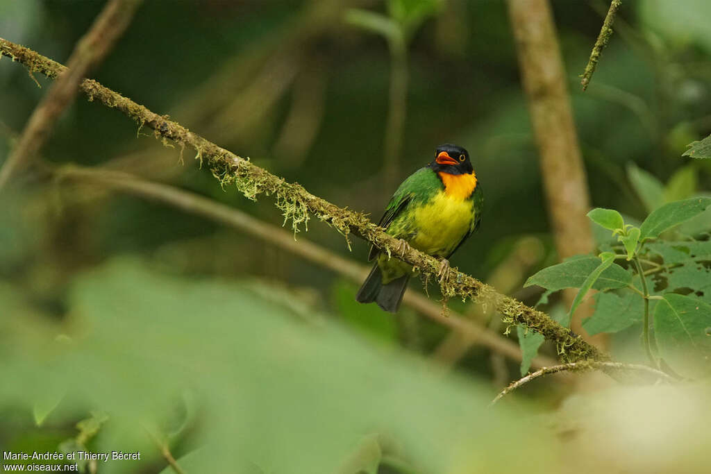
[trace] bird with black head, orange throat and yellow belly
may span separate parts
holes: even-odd
[[[392,237],[442,261],[448,259],[474,233],[481,222],[483,193],[471,166],[469,152],[461,146],[437,146],[434,158],[400,184],[385,214],[378,222]],[[396,313],[407,281],[415,274],[412,266],[370,247],[368,261],[373,269],[355,296],[360,303],[378,303],[384,311]]]

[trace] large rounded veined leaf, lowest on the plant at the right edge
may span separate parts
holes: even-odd
[[[670,293],[654,311],[659,354],[681,375],[711,372],[711,306],[697,298]]]

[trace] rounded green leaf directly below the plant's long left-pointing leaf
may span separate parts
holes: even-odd
[[[595,312],[582,321],[589,335],[617,333],[639,323],[644,317],[644,300],[637,293],[626,291],[620,297],[615,293],[597,293]]]

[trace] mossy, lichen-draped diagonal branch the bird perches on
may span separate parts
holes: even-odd
[[[66,69],[65,66],[33,50],[2,38],[0,38],[0,53],[26,65],[31,72],[41,72],[47,77],[57,77]],[[526,306],[514,298],[497,293],[491,286],[461,271],[451,270],[442,278],[438,278],[439,260],[412,249],[400,239],[387,235],[382,227],[370,222],[368,216],[362,212],[339,208],[309,193],[299,184],[287,183],[284,179],[255,166],[248,159],[220,148],[180,124],[172,122],[168,117],[151,112],[95,80],[83,80],[80,89],[90,100],[98,100],[108,107],[119,109],[139,125],[153,129],[156,138],[164,141],[171,140],[181,147],[189,146],[195,149],[196,158],[199,158],[201,163],[206,161],[223,185],[232,183],[237,185],[237,189],[252,200],[260,194],[274,195],[277,207],[284,212],[286,220],[292,220],[295,231],[300,223],[306,225],[309,214],[314,215],[317,219],[335,227],[346,239],[351,234],[361,237],[375,244],[383,252],[415,266],[424,276],[429,276],[430,280],[439,280],[442,293],[446,298],[460,296],[465,300],[471,298],[484,304],[491,304],[501,313],[505,323],[525,325],[542,334],[547,340],[555,342],[564,360],[606,360],[606,355],[599,352],[597,348],[589,345],[582,338],[574,336],[570,330],[553,321],[545,313]]]

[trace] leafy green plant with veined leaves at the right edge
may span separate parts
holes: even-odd
[[[653,183],[638,170],[633,179]],[[662,188],[655,183],[645,189]],[[658,202],[663,196],[647,193],[643,200]],[[673,230],[710,205],[711,198],[705,197],[665,203],[639,227],[625,224],[616,210],[594,209],[588,217],[611,231],[616,242],[603,245],[597,257],[579,255],[542,269],[525,286],[538,285],[549,292],[578,288],[569,316],[595,289],[599,293],[594,295],[594,314],[583,321],[589,334],[616,333],[641,323],[643,348],[653,366],[670,367],[684,377],[708,375],[711,241],[683,239]],[[530,335],[520,340],[530,360],[535,355],[535,349],[530,353]]]

